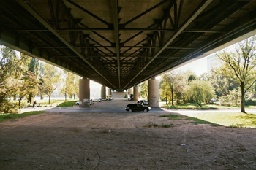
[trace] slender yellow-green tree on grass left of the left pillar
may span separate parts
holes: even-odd
[[[50,104],[50,96],[53,91],[56,90],[56,88],[58,88],[59,86],[60,74],[56,66],[52,66],[46,63],[44,67],[45,69],[42,79],[44,82],[45,93],[49,97],[48,104]]]

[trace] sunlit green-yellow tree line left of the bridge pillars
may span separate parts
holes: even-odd
[[[48,96],[50,104],[50,96],[57,88],[66,99],[78,96],[77,75],[9,47],[0,49],[0,112],[17,112],[31,104],[35,96]]]

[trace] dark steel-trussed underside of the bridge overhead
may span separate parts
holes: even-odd
[[[256,29],[256,1],[0,0],[0,44],[123,90]]]

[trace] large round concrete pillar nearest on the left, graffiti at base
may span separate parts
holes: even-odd
[[[79,107],[90,106],[90,80],[80,79],[79,80]]]

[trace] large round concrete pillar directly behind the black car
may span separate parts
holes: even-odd
[[[159,80],[148,80],[148,105],[159,107]]]

